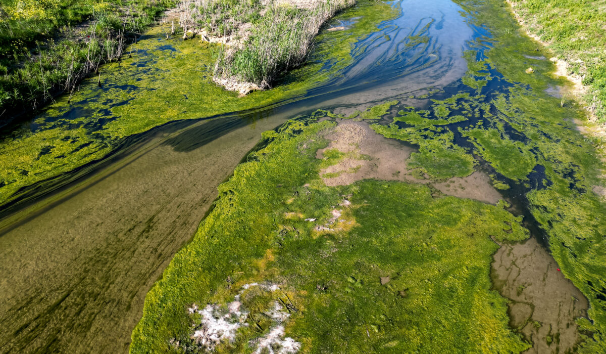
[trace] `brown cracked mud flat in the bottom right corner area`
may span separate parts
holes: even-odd
[[[536,239],[501,244],[491,276],[502,296],[511,300],[511,327],[533,344],[525,353],[573,351],[579,341],[574,321],[587,316],[587,299]]]

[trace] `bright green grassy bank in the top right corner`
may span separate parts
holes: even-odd
[[[568,73],[589,87],[584,100],[606,123],[606,4],[601,0],[510,0],[529,33],[547,43]]]

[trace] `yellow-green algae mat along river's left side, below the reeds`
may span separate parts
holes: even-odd
[[[355,18],[347,32],[320,33],[306,65],[291,70],[275,88],[242,98],[213,83],[215,45],[167,39],[170,24],[155,27],[128,47],[121,61],[103,67],[101,86],[97,78],[85,79],[71,100],[59,97],[35,120],[5,134],[0,143],[0,205],[18,199],[24,187],[103,158],[124,137],[169,121],[301,98],[338,77],[354,62],[354,44],[396,13],[388,4],[360,1],[339,16],[341,21]]]

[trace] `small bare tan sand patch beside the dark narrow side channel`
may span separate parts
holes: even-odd
[[[502,199],[501,194],[494,189],[490,182],[490,177],[478,171],[467,177],[453,177],[445,182],[433,183],[433,186],[449,196],[474,199],[490,204],[496,204]]]

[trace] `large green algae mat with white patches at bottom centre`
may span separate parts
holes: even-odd
[[[490,236],[525,239],[521,217],[504,203],[436,199],[424,185],[327,187],[315,155],[335,123],[313,122],[264,134],[270,143],[219,187],[213,211],[148,293],[130,351],[203,352],[191,337],[201,316],[187,308],[227,313],[236,300],[247,325],[218,352],[257,349],[275,328],[274,304],[288,309],[284,336],[305,353],[527,349],[488,274],[498,248]],[[331,219],[345,198],[351,205]],[[254,283],[279,290],[245,285]]]

